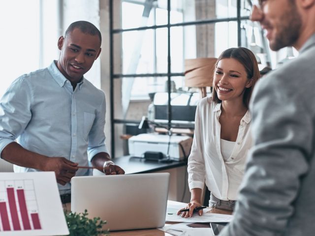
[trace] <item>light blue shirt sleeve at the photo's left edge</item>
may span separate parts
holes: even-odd
[[[24,77],[16,79],[0,101],[0,153],[25,130],[32,117],[32,90]]]

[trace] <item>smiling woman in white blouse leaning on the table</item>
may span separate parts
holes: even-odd
[[[258,64],[246,48],[230,48],[219,56],[214,71],[213,95],[200,100],[195,117],[195,133],[188,158],[189,211],[201,206],[205,184],[211,191],[209,206],[233,210],[252,146],[252,89],[259,79]],[[202,214],[202,210],[199,210]]]

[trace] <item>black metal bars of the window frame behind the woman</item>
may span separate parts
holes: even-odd
[[[170,29],[171,27],[178,26],[192,26],[192,25],[206,25],[215,24],[220,22],[237,22],[237,45],[241,46],[241,21],[249,20],[248,16],[241,16],[241,0],[237,0],[237,15],[236,17],[230,18],[219,18],[219,19],[208,19],[199,21],[190,21],[183,23],[170,23],[170,12],[171,12],[171,0],[167,0],[167,24],[166,25],[154,25],[148,27],[139,27],[131,29],[113,29],[113,1],[109,1],[109,34],[110,34],[110,125],[111,125],[111,156],[115,158],[115,124],[121,123],[133,123],[138,124],[140,120],[130,120],[130,119],[115,119],[114,117],[114,79],[117,78],[134,78],[134,77],[167,77],[167,93],[168,93],[168,104],[167,104],[167,120],[168,128],[171,127],[172,114],[171,114],[171,77],[173,76],[184,76],[183,73],[172,73],[171,72],[171,43],[170,43]],[[139,31],[146,29],[159,29],[167,28],[167,73],[149,73],[149,74],[115,74],[114,73],[114,34],[127,32],[127,31]]]

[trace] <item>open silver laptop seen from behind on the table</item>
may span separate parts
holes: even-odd
[[[169,173],[73,177],[71,211],[106,220],[110,231],[165,224]]]

